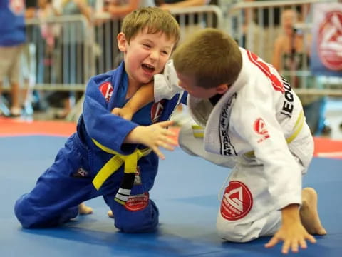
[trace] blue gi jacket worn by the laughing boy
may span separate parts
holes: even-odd
[[[111,114],[113,108],[125,105],[127,87],[128,79],[124,63],[120,64],[118,69],[93,76],[88,82],[83,114],[78,122],[77,134],[78,138],[81,139],[83,147],[90,153],[89,168],[92,176],[95,176],[100,168],[113,157],[113,154],[102,151],[98,146],[95,146],[93,140],[123,155],[133,153],[137,147],[145,148],[145,146],[138,146],[136,144],[126,144],[123,141],[128,133],[140,124],[150,125],[156,121],[169,119],[177,104],[180,101],[186,101],[186,95],[181,99],[182,96],[177,94],[170,100],[163,99],[159,103],[145,106],[133,116],[132,121],[128,121]],[[148,119],[143,119],[143,116],[147,116]],[[132,194],[149,191],[152,188],[157,173],[157,164],[158,158],[155,153],[150,153],[138,161],[138,166],[140,166],[142,171],[145,171],[145,174],[142,174],[142,177],[145,179],[142,188],[134,187]],[[120,181],[123,178],[122,170],[123,167],[115,172],[113,176],[110,176],[108,181],[101,187],[101,190],[108,190],[108,187],[110,187],[110,190],[113,190],[113,188],[118,190]],[[146,174],[147,172],[149,173],[148,175]]]

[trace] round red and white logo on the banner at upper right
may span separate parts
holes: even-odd
[[[342,70],[342,11],[328,11],[318,29],[318,56],[326,68]]]

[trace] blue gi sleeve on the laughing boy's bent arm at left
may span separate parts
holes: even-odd
[[[111,114],[110,109],[108,109],[108,101],[98,86],[105,81],[110,81],[109,74],[100,79],[95,76],[88,82],[83,104],[84,124],[90,138],[105,148],[127,155],[132,153],[137,145],[123,143],[123,141],[138,124]],[[117,88],[118,85],[114,85],[112,97],[115,97]]]

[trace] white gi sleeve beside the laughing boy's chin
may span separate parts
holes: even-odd
[[[172,99],[177,93],[182,93],[184,90],[178,86],[178,77],[176,74],[173,61],[167,61],[163,74],[157,74],[154,77],[155,101],[161,99]]]

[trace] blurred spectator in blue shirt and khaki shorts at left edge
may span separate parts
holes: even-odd
[[[0,96],[4,79],[11,85],[11,116],[21,115],[19,77],[21,50],[26,41],[24,0],[0,1]]]

